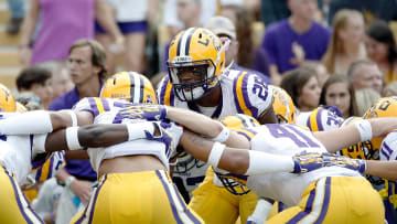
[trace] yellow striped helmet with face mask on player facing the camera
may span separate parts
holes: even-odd
[[[225,49],[207,29],[190,28],[180,32],[170,44],[169,76],[176,97],[182,102],[208,95],[218,84],[225,67]],[[194,78],[183,79],[186,73]]]

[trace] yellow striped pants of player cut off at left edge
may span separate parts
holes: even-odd
[[[15,179],[0,166],[0,223],[43,223]]]

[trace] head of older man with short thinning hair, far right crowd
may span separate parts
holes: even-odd
[[[379,94],[382,92],[382,73],[375,62],[368,60],[353,62],[347,76],[354,90],[373,88]]]

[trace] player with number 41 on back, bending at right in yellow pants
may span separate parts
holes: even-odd
[[[189,120],[182,120],[181,117],[183,116],[171,119],[186,126],[185,122]],[[373,136],[385,135],[396,125],[396,118],[386,118],[312,134],[294,125],[275,124],[253,128],[258,134],[250,143],[247,142],[246,138],[236,136],[233,137],[234,140],[229,141],[230,139],[228,139],[229,142],[226,141],[226,143],[229,146],[235,143],[234,146],[238,148],[250,148],[255,151],[286,156],[303,149],[335,152],[354,142],[371,139]],[[191,139],[189,140],[189,138]],[[247,145],[243,146],[243,142]],[[203,153],[206,150],[210,151],[210,158],[212,158],[211,154],[215,153],[216,159],[208,160],[214,167],[232,159],[222,153],[223,148],[219,145],[214,145],[200,136],[184,132],[181,143],[185,150],[196,158],[203,157],[195,153]],[[254,160],[251,157],[249,159]],[[235,158],[235,160],[237,159]],[[240,170],[236,173],[244,174],[246,167],[244,168],[242,163],[236,162],[237,166]],[[290,173],[249,175],[247,186],[255,191],[258,196],[271,198],[290,206],[273,216],[269,221],[270,223],[297,223],[299,221],[309,223],[315,221],[323,223],[384,222],[383,203],[377,192],[358,172],[342,167],[320,168],[300,175]],[[362,195],[366,196],[363,198]],[[353,210],[361,211],[360,215],[350,212]]]

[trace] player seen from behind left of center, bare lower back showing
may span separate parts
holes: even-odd
[[[51,132],[76,124],[128,124],[131,135],[140,135],[139,139],[118,145],[98,146],[106,148],[88,148],[87,152],[93,168],[98,173],[99,185],[94,191],[89,204],[81,215],[75,216],[73,222],[105,222],[105,223],[202,223],[200,217],[186,207],[176,188],[173,186],[168,175],[169,158],[173,154],[182,128],[165,122],[146,121],[144,119],[130,119],[128,106],[132,103],[155,103],[155,93],[150,82],[137,73],[116,74],[109,78],[101,92],[101,96],[111,98],[84,98],[74,107],[74,111],[47,113],[36,111],[26,114],[25,117],[10,118],[3,120],[2,132],[23,134],[37,124],[30,124],[21,130],[21,126],[13,122],[40,119],[47,121],[50,127],[43,127],[40,131]],[[129,102],[128,102],[129,100]],[[30,117],[29,117],[30,116]],[[35,117],[36,116],[36,117]],[[9,124],[9,126],[7,126]],[[10,127],[10,124],[13,126]],[[158,124],[158,125],[157,125]],[[164,126],[167,130],[161,136],[155,136],[155,127]],[[133,128],[131,128],[133,126]],[[11,129],[11,130],[10,130]],[[19,131],[19,132],[18,132]],[[69,140],[71,136],[77,135],[77,127],[66,129],[66,134],[53,132],[45,141],[52,146],[49,150],[82,149],[79,141]],[[146,137],[151,134],[152,139]],[[65,140],[56,135],[66,135]],[[92,134],[90,139],[96,138],[97,132]],[[63,138],[65,139],[65,138]],[[98,141],[96,141],[98,142]],[[83,146],[93,146],[84,145]],[[139,183],[139,184],[137,184]],[[71,183],[65,183],[69,185]],[[139,194],[130,192],[140,192]],[[111,206],[109,207],[109,205]]]

